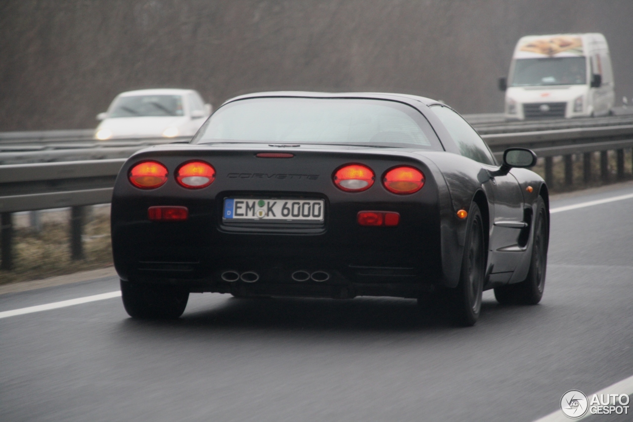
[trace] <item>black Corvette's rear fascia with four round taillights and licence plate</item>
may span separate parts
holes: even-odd
[[[134,173],[143,163],[158,186]],[[418,297],[441,278],[436,181],[398,148],[148,148],[123,166],[111,218],[115,267],[132,283]]]

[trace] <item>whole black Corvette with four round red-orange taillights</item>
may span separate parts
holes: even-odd
[[[230,99],[187,144],[138,151],[112,198],[132,317],[179,317],[191,292],[417,298],[479,317],[541,300],[548,189],[530,150],[498,165],[448,106],[402,94]]]

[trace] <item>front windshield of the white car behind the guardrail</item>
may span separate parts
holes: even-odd
[[[108,117],[182,116],[180,95],[137,95],[116,99]]]

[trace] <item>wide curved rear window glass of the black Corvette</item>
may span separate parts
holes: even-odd
[[[441,149],[415,108],[380,99],[253,98],[220,107],[192,143],[292,143]]]

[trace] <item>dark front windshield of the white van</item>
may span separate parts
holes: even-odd
[[[511,86],[584,85],[584,57],[548,57],[515,61]]]

